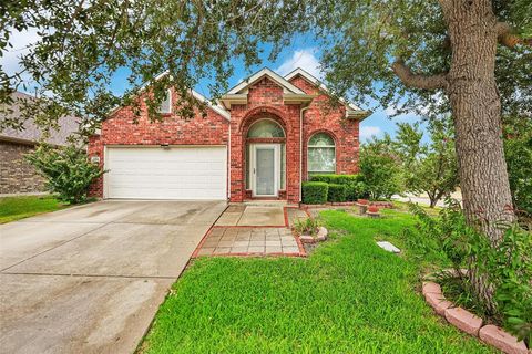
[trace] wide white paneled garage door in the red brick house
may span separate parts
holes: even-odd
[[[225,147],[108,147],[106,198],[226,199]]]

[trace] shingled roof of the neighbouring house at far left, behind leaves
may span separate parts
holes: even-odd
[[[0,119],[4,117],[17,117],[21,114],[21,105],[22,101],[33,101],[37,100],[33,96],[30,96],[22,92],[13,92],[11,94],[13,98],[13,104],[10,108],[13,111],[7,112],[3,111],[3,107],[0,110]],[[45,139],[48,144],[52,145],[66,145],[68,138],[78,132],[80,126],[80,122],[76,117],[68,115],[62,116],[58,121],[59,128],[54,129],[53,127],[50,128],[50,137]],[[0,131],[0,140],[9,140],[13,143],[21,143],[21,144],[35,144],[41,140],[42,137],[42,129],[39,127],[32,119],[25,119],[23,122],[23,129],[13,129],[11,127],[7,127],[3,131]]]

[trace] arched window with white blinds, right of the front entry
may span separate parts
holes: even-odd
[[[317,133],[308,140],[308,174],[336,173],[335,139],[326,133]]]

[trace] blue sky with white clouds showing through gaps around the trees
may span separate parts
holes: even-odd
[[[1,59],[2,67],[8,72],[14,72],[19,67],[19,60],[18,58],[27,52],[27,46],[31,43],[34,43],[39,37],[35,32],[24,32],[24,33],[14,33],[13,37],[14,41],[14,49],[11,51],[3,53],[3,58]],[[267,66],[280,75],[285,75],[293,71],[296,67],[301,67],[313,74],[318,79],[323,79],[323,74],[319,70],[319,58],[320,52],[318,50],[317,43],[314,41],[311,35],[298,35],[294,41],[293,44],[288,48],[285,48],[275,61],[268,61],[269,54],[269,45],[263,46],[263,54],[260,59],[263,62],[254,67],[250,67],[249,71],[246,71],[244,64],[241,60],[235,60],[233,65],[235,67],[234,75],[229,79],[229,87],[236,85],[239,81],[247,77],[253,72]],[[112,80],[111,88],[114,93],[121,94],[125,91],[127,82],[126,82],[127,71],[122,70],[119,71]],[[208,86],[208,81],[202,81],[195,90],[203,94],[206,97],[209,97],[209,93],[206,90]],[[357,102],[354,102],[358,104]],[[367,140],[372,135],[382,136],[385,133],[389,133],[393,135],[396,131],[396,122],[409,122],[413,123],[416,121],[421,121],[420,117],[408,114],[408,115],[400,115],[393,118],[389,116],[392,114],[393,108],[389,107],[383,110],[382,107],[377,106],[374,104],[372,106],[361,106],[365,110],[374,110],[374,114],[366,118],[360,126],[360,139]],[[427,138],[427,137],[426,137]]]

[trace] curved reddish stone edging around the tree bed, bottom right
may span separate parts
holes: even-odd
[[[502,329],[485,324],[481,317],[472,314],[466,309],[454,305],[447,300],[441,292],[440,284],[426,281],[422,283],[422,294],[427,303],[434,312],[446,319],[447,322],[458,330],[480,339],[483,343],[494,346],[509,354],[530,354],[524,341],[518,342],[516,337],[504,332]]]

